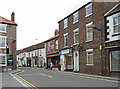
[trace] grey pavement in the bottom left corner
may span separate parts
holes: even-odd
[[[21,70],[10,70],[8,72],[3,72],[1,73],[2,75],[2,89],[15,89],[20,88],[20,89],[26,89],[26,87],[20,83],[19,81],[17,81],[17,79],[15,79],[15,77],[12,75],[13,72],[18,72]]]

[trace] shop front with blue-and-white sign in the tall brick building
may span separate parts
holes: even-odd
[[[59,51],[61,70],[73,71],[72,49]]]

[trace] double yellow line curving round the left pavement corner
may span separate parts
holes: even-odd
[[[25,85],[27,85],[28,87],[30,87],[31,89],[38,89],[36,86],[34,86],[33,84],[29,83],[28,81],[26,81],[25,79],[23,79],[22,77],[18,76],[18,74],[23,73],[24,70],[14,73],[13,75],[19,79],[21,82],[23,82]]]

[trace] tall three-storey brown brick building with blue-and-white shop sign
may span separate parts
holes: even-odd
[[[62,70],[101,74],[100,32],[88,28],[102,24],[103,74],[105,74],[104,14],[118,2],[88,2],[59,23],[59,54]],[[65,68],[63,68],[65,67]]]

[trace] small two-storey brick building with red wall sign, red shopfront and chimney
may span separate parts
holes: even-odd
[[[50,62],[53,64],[53,68],[58,68],[60,61],[59,58],[59,31],[55,30],[55,36],[45,41],[46,44],[46,57],[47,57],[47,67]]]

